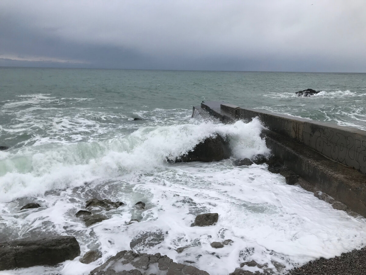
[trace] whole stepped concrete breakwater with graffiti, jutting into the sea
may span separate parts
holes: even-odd
[[[305,180],[303,188],[334,208],[366,217],[366,131],[216,101],[202,102],[196,112],[224,123],[258,118],[266,145]]]

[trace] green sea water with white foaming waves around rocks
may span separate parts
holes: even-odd
[[[0,151],[0,242],[72,235],[81,256],[90,249],[102,254],[91,264],[77,257],[0,274],[89,274],[131,242],[136,252],[166,254],[211,275],[250,260],[283,274],[364,246],[364,218],[285,184],[266,164],[233,165],[270,154],[258,120],[224,125],[191,115],[202,100],[222,100],[366,129],[365,76],[0,68],[0,146],[10,147]],[[306,88],[322,92],[295,95]],[[232,158],[168,161],[216,133],[228,138]],[[102,211],[108,219],[86,227],[75,214],[91,198],[126,205]],[[146,208],[134,207],[138,201]],[[20,210],[28,202],[41,208]],[[202,213],[218,213],[217,224],[191,227]],[[141,235],[150,241],[137,241]],[[210,246],[225,239],[233,242]]]

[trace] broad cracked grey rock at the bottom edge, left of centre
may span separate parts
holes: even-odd
[[[171,258],[161,256],[160,253],[137,254],[127,250],[118,252],[116,256],[109,258],[100,267],[93,269],[90,275],[149,275],[152,270],[154,274],[209,275],[206,271],[199,270],[192,265],[175,263]]]

